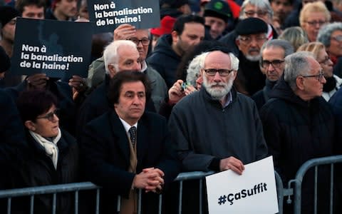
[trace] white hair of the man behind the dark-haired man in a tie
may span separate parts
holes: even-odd
[[[129,40],[115,40],[105,47],[103,51],[103,60],[105,61],[105,73],[109,73],[108,65],[113,64],[116,71],[118,71],[118,49],[121,46],[128,46],[132,48],[137,48],[137,45],[133,41]]]

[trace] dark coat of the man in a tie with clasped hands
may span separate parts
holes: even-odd
[[[166,134],[165,118],[156,113],[145,112],[138,121],[136,172],[159,168],[165,173],[165,185],[180,172],[180,163]],[[115,111],[108,111],[87,124],[81,135],[81,153],[84,178],[103,187],[101,213],[115,213],[117,195],[128,197],[135,176],[127,171],[130,165],[129,141]],[[142,190],[142,197],[143,213],[155,213],[157,195]]]

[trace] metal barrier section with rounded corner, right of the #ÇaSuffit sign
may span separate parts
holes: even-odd
[[[317,185],[318,185],[318,166],[319,165],[330,165],[330,193],[329,193],[329,213],[333,213],[333,170],[334,170],[334,164],[335,163],[341,163],[342,162],[342,156],[328,156],[324,158],[314,158],[309,161],[306,161],[303,165],[301,165],[301,168],[296,173],[296,178],[293,180],[289,180],[289,187],[291,184],[294,184],[294,214],[300,214],[301,213],[301,186],[303,183],[303,178],[306,172],[314,167],[314,213],[317,213]],[[328,213],[328,210],[326,211]]]

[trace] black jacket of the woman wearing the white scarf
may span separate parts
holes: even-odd
[[[14,188],[76,183],[79,181],[78,144],[75,138],[66,131],[61,130],[61,134],[61,139],[57,143],[58,163],[57,169],[55,169],[51,158],[46,155],[45,149],[26,131],[27,157],[25,163],[19,168],[19,175],[12,180]],[[73,213],[73,197],[73,193],[57,194],[56,213]],[[51,213],[52,199],[52,195],[36,195],[34,213]],[[13,207],[13,213],[29,213],[29,198],[20,198],[19,201],[14,199]]]

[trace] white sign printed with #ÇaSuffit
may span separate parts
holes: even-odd
[[[209,213],[278,213],[272,157],[206,177]]]

